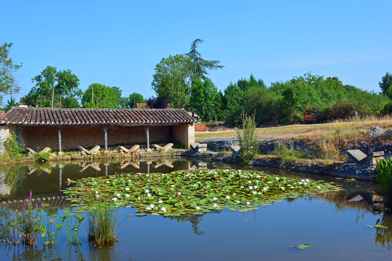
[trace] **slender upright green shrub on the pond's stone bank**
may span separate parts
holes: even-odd
[[[258,152],[258,138],[256,134],[256,122],[255,116],[252,114],[248,116],[244,112],[241,114],[242,121],[242,135],[240,130],[237,131],[238,145],[240,146],[239,156],[241,161],[247,162],[252,159],[253,156]]]

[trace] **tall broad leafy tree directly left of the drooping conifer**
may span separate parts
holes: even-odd
[[[183,108],[191,95],[191,73],[193,62],[183,54],[163,58],[155,66],[152,89],[163,97],[172,108]]]

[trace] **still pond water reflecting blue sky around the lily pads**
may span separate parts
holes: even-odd
[[[30,190],[34,199],[48,201],[60,216],[62,208],[71,204],[64,200],[61,190],[71,187],[76,179],[123,172],[217,168],[333,181],[343,190],[289,198],[248,212],[213,210],[201,215],[136,217],[129,214],[135,214],[137,208],[121,207],[120,241],[111,247],[89,247],[83,225],[79,246],[65,244],[63,234],[51,248],[43,248],[40,239],[34,248],[4,243],[11,236],[10,216],[22,206]],[[392,215],[374,211],[367,203],[347,202],[347,198],[358,194],[371,199],[378,192],[372,183],[199,159],[160,158],[142,162],[3,166],[0,185],[1,260],[392,260]],[[310,247],[290,247],[301,244]]]

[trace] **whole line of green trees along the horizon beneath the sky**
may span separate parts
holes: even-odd
[[[379,82],[379,93],[310,72],[270,86],[250,74],[249,78],[230,82],[223,92],[218,91],[208,74],[224,66],[218,60],[202,58],[198,45],[203,42],[196,39],[189,53],[171,55],[156,65],[151,83],[156,96],[147,99],[137,92],[122,97],[119,87],[101,83],[92,83],[82,91],[79,78],[71,70],[47,66],[31,79],[34,86],[22,101],[32,107],[63,108],[134,108],[136,103],[147,103],[155,109],[185,108],[205,121],[217,116],[232,126],[240,124],[242,112],[254,114],[258,125],[316,123],[392,112],[389,72]],[[0,94],[10,96],[3,105],[5,110],[17,105],[12,94],[19,91],[15,72],[22,66],[9,58],[11,50],[12,43],[0,46]]]

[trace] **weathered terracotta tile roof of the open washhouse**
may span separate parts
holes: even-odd
[[[193,123],[184,109],[65,109],[13,107],[0,116],[0,124],[101,125]]]

